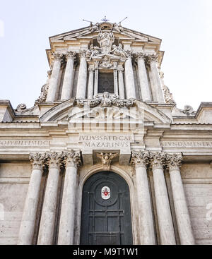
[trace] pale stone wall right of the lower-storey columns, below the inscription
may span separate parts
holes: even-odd
[[[210,164],[183,164],[182,179],[196,244],[212,244],[212,169]]]

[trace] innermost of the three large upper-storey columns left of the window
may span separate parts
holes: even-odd
[[[81,63],[78,71],[78,82],[76,88],[76,98],[84,99],[86,98],[86,84],[87,84],[87,62],[86,62],[86,52],[81,52]]]

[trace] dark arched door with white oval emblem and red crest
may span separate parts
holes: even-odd
[[[126,181],[111,171],[90,176],[83,187],[81,244],[132,243],[129,187]]]

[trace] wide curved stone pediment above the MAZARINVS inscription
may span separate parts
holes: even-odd
[[[94,102],[94,101],[93,101]],[[69,124],[70,122],[102,122],[109,120],[115,124],[116,121],[125,121],[144,124],[151,122],[153,124],[170,124],[171,120],[163,112],[151,107],[139,100],[119,100],[115,103],[88,102],[88,100],[71,99],[66,102],[49,109],[48,112],[40,117],[41,122],[63,121]],[[124,103],[124,104],[122,104]],[[92,104],[92,105],[91,105]],[[121,105],[122,104],[122,105]]]

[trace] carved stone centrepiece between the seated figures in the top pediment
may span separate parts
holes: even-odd
[[[110,54],[114,35],[112,32],[100,32],[98,35],[98,43],[102,49],[101,54]]]

